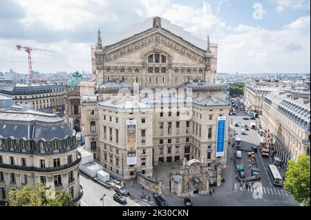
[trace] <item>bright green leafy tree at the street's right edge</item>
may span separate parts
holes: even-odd
[[[285,188],[303,206],[310,206],[310,157],[303,153],[297,161],[288,161]]]

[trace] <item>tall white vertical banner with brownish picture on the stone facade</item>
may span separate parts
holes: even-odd
[[[137,163],[137,144],[136,144],[136,121],[126,121],[126,163],[134,165]]]

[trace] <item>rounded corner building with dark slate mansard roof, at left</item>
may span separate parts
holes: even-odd
[[[40,182],[79,201],[80,161],[75,134],[64,119],[24,106],[0,106],[0,204],[9,201],[10,190]]]

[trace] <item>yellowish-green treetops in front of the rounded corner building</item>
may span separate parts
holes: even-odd
[[[43,183],[30,189],[24,186],[21,190],[11,190],[9,192],[9,206],[77,206],[77,203],[71,201],[68,192],[60,191],[53,195],[53,192],[47,190]]]

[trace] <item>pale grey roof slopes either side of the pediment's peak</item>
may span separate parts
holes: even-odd
[[[150,17],[149,19],[146,19],[143,22],[135,23],[130,28],[126,28],[121,32],[104,36],[103,39],[104,46],[110,46],[114,43],[117,43],[129,37],[133,37],[135,34],[153,28],[153,18],[154,17]],[[207,41],[200,39],[198,37],[194,37],[193,35],[191,35],[190,32],[187,32],[183,28],[176,26],[175,24],[171,23],[171,21],[164,19],[162,17],[161,17],[161,28],[164,28],[173,34],[176,34],[178,37],[182,37],[182,39],[184,39],[185,41],[192,43],[194,46],[202,50],[207,50]]]

